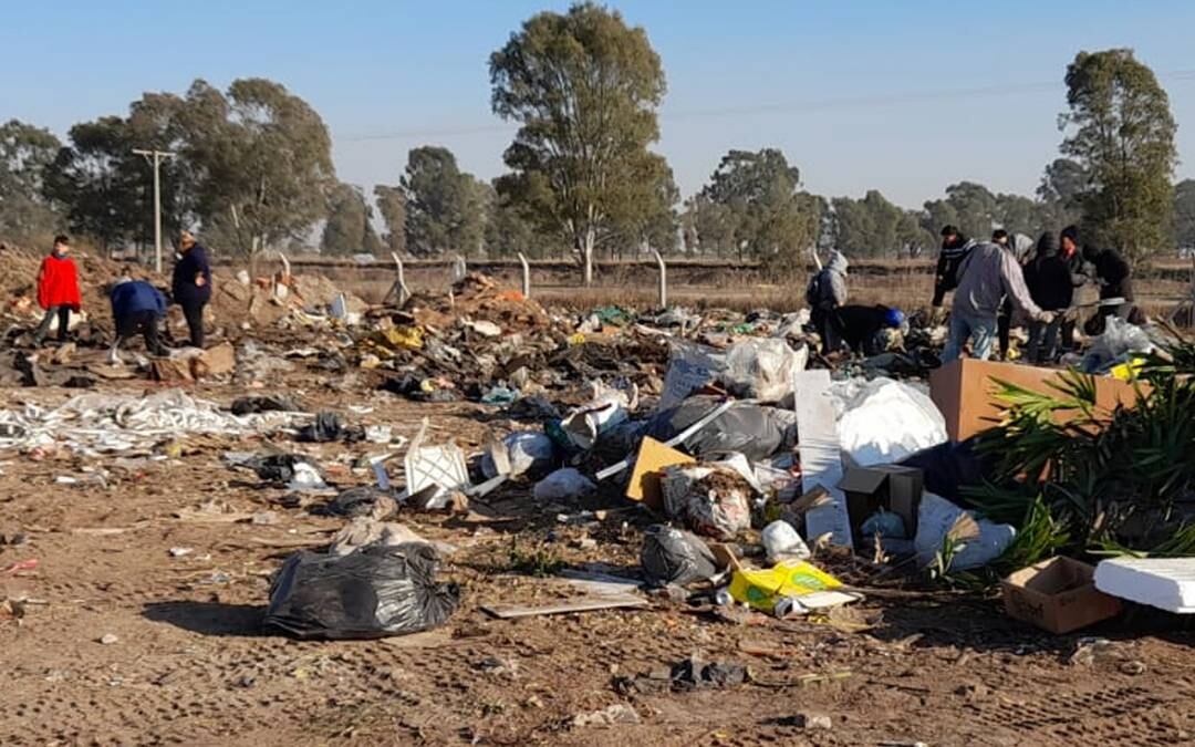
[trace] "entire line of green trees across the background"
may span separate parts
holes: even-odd
[[[75,124],[66,142],[19,121],[0,125],[0,237],[30,241],[69,227],[109,249],[152,241],[149,166],[163,167],[164,226],[198,228],[216,252],[318,244],[327,255],[431,257],[646,249],[785,267],[813,247],[852,256],[932,253],[945,224],[974,237],[1036,234],[1080,222],[1135,259],[1195,247],[1195,182],[1172,184],[1176,124],[1153,72],[1130,50],[1079,53],[1066,71],[1060,155],[1032,196],[975,182],[908,210],[878,190],[810,194],[776,148],[733,149],[681,202],[660,137],[664,68],[646,31],[592,2],[538,13],[490,56],[491,109],[519,125],[485,182],[454,154],[422,146],[372,195],[341,182],[319,114],[283,85],[243,79],[220,91],[146,93],[124,116]],[[379,229],[380,228],[380,229]]]

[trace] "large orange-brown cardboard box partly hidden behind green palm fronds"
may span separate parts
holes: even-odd
[[[1035,392],[1056,393],[1050,384],[1060,382],[1060,373],[1053,368],[960,359],[930,374],[930,398],[945,416],[950,439],[966,441],[1000,422],[1000,411],[1006,405],[995,397],[998,386],[993,379]],[[1111,376],[1095,376],[1095,381],[1096,404],[1101,410],[1111,412],[1117,404],[1136,404],[1133,384]],[[1055,417],[1066,422],[1068,416],[1058,412]]]

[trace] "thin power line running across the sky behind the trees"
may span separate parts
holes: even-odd
[[[1195,69],[1171,71],[1158,75],[1159,80],[1189,81],[1195,80]],[[1000,96],[1012,96],[1017,93],[1043,93],[1058,91],[1059,81],[1041,81],[1009,84],[995,86],[979,86],[973,88],[945,88],[938,91],[908,91],[903,93],[858,96],[858,97],[834,97],[825,99],[809,99],[803,102],[778,102],[772,104],[752,104],[742,106],[721,106],[713,109],[693,109],[676,112],[661,112],[660,118],[664,122],[676,122],[685,120],[700,120],[743,115],[760,114],[784,114],[798,111],[802,114],[823,112],[850,109],[868,109],[874,106],[894,106],[900,104],[957,100],[968,98],[988,98]],[[387,133],[372,133],[362,135],[348,135],[337,137],[337,142],[366,142],[373,140],[416,140],[433,137],[453,137],[464,135],[484,135],[490,133],[513,133],[517,129],[515,124],[478,124],[473,127],[443,128],[443,129],[411,129],[394,130]]]

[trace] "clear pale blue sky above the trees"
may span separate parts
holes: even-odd
[[[396,183],[406,152],[452,148],[484,178],[513,128],[489,109],[489,54],[568,2],[56,0],[5,4],[0,120],[62,135],[195,78],[278,80],[332,130],[342,179]],[[1132,47],[1178,121],[1195,174],[1189,0],[612,2],[668,75],[662,139],[684,195],[729,148],[779,147],[826,195],[881,189],[917,207],[950,183],[1031,194],[1058,152],[1062,75],[1079,49]],[[987,90],[987,92],[976,92]]]

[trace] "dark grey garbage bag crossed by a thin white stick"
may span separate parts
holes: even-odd
[[[722,400],[717,397],[690,397],[675,408],[651,418],[648,434],[668,441],[709,415]],[[701,460],[717,459],[739,452],[752,461],[762,461],[782,448],[797,442],[796,417],[779,408],[735,403],[701,430],[682,443],[684,452]]]

